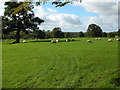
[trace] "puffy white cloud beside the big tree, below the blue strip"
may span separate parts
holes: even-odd
[[[79,16],[72,14],[58,13],[56,10],[47,8],[49,12],[40,6],[36,9],[35,15],[45,22],[40,25],[40,29],[52,30],[54,27],[61,27],[63,31],[79,30],[81,22]],[[40,13],[41,12],[41,13]]]

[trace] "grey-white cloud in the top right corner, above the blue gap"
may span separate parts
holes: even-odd
[[[84,7],[88,12],[93,12],[101,15],[117,15],[118,11],[118,3],[116,2],[87,2],[81,4],[81,6]]]

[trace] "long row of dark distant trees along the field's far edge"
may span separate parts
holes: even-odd
[[[95,24],[91,24],[95,25]],[[91,26],[89,25],[89,26]],[[96,27],[96,25],[95,25]],[[99,27],[100,29],[100,27]],[[22,39],[49,39],[49,38],[75,38],[75,37],[116,37],[120,36],[120,29],[118,32],[102,32],[92,27],[88,27],[86,32],[62,32],[60,27],[55,27],[53,30],[28,30],[21,31],[19,38]],[[2,33],[2,39],[16,39],[16,31],[9,33]]]

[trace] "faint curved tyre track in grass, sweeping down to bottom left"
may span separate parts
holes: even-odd
[[[26,79],[26,80],[24,80],[23,82],[21,82],[21,83],[19,83],[19,84],[14,84],[13,85],[13,87],[14,88],[20,88],[20,87],[29,87],[29,83],[30,82],[33,82],[33,81],[35,81],[36,79],[38,79],[40,76],[42,76],[44,73],[47,73],[47,71],[48,71],[48,67],[50,67],[51,66],[51,64],[53,63],[53,60],[52,60],[52,56],[50,57],[50,63],[48,63],[47,62],[47,64],[43,64],[42,65],[42,68],[44,69],[44,70],[42,70],[42,72],[40,73],[40,74],[38,74],[38,75],[36,75],[35,77],[30,77],[29,79]],[[46,67],[47,66],[47,67]]]

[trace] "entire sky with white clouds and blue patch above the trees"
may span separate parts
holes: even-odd
[[[4,0],[0,2],[0,16],[4,13]],[[51,2],[35,6],[36,17],[43,19],[39,28],[52,30],[60,27],[63,32],[86,32],[89,24],[96,24],[104,32],[118,30],[118,0],[84,0],[64,7],[55,7]]]

